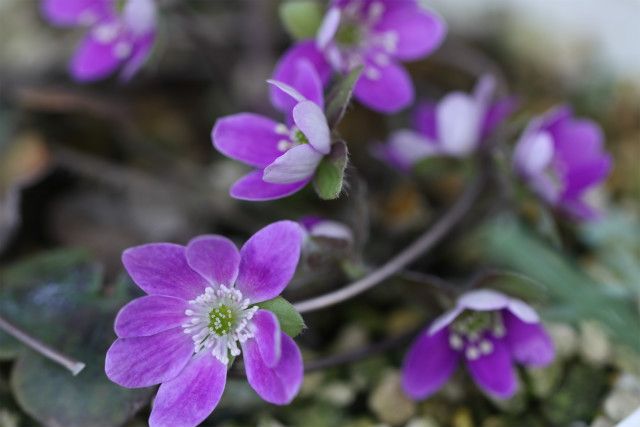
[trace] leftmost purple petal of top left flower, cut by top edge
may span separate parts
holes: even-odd
[[[54,25],[93,25],[112,18],[115,11],[109,0],[43,0],[42,14]]]

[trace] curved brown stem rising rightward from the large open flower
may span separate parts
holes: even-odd
[[[306,313],[339,304],[373,288],[404,269],[442,240],[463,218],[478,197],[482,181],[484,181],[484,175],[480,179],[474,180],[456,203],[431,228],[382,267],[334,292],[300,301],[294,304],[295,309],[300,313]]]

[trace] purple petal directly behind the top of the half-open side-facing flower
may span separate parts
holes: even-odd
[[[297,64],[300,60],[309,61],[313,65],[323,85],[329,81],[332,73],[331,66],[324,58],[324,54],[316,47],[314,40],[297,43],[285,52],[276,64],[273,80],[295,87],[299,78]],[[280,111],[287,111],[291,103],[289,96],[277,89],[271,90],[271,102]]]

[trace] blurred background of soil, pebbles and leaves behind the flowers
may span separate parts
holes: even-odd
[[[241,111],[278,117],[265,80],[292,43],[281,3],[158,0],[158,43],[134,80],[81,85],[67,63],[82,30],[51,27],[36,0],[0,0],[0,314],[88,364],[72,377],[0,332],[0,427],[145,425],[151,391],[123,390],[103,373],[114,314],[137,295],[123,249],[202,233],[242,242],[270,222],[309,214],[350,226],[354,242],[319,243],[305,258],[288,294],[295,301],[383,263],[463,189],[467,164],[405,176],[375,160],[371,144],[406,125],[408,113],[354,105],[340,127],[352,168],[339,200],[320,201],[310,189],[259,204],[228,196],[246,169],[213,149],[211,128]],[[605,131],[615,167],[590,195],[602,221],[568,223],[522,191],[505,208],[489,191],[412,267],[460,288],[498,266],[541,282],[490,285],[539,304],[557,361],[523,370],[522,391],[507,402],[484,397],[465,375],[425,402],[406,399],[398,377],[406,337],[447,303],[428,278],[408,275],[305,316],[306,359],[370,349],[367,357],[307,374],[283,408],[230,381],[205,425],[611,427],[640,407],[640,2],[424,3],[449,35],[409,67],[419,98],[467,91],[491,72],[521,100],[509,145],[533,115],[564,102]],[[508,226],[491,227],[498,213],[509,214]]]

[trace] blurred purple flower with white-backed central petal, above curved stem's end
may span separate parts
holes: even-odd
[[[415,130],[394,132],[374,154],[403,171],[427,157],[467,156],[516,108],[514,98],[493,102],[494,92],[495,80],[486,75],[471,95],[452,92],[437,104],[422,103],[414,114]]]

